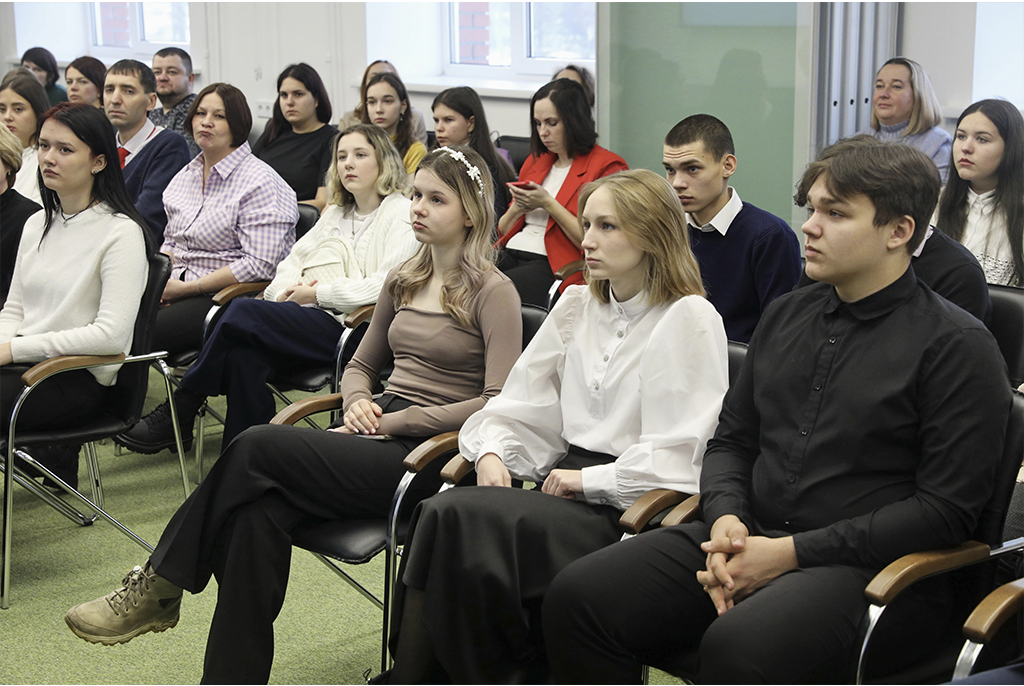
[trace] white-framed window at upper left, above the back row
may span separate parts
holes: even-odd
[[[92,2],[92,44],[110,57],[152,54],[190,43],[187,2]]]

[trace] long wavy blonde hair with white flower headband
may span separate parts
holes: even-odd
[[[459,324],[472,326],[469,303],[487,273],[495,268],[490,233],[495,227],[495,187],[483,158],[472,147],[440,147],[423,158],[417,172],[429,170],[459,196],[472,226],[459,250],[459,261],[447,269],[441,287],[441,308]],[[678,203],[678,201],[677,201]],[[391,283],[395,308],[412,301],[433,275],[430,246],[420,246],[416,255],[398,269]]]

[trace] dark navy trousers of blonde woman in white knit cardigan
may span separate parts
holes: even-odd
[[[279,372],[333,367],[344,326],[328,312],[294,302],[233,300],[217,321],[181,386],[226,395],[223,444],[276,411],[266,387]]]

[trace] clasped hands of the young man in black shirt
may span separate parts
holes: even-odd
[[[708,553],[707,569],[697,572],[697,583],[725,614],[784,571],[798,566],[793,537],[768,539],[750,535],[735,515],[719,517],[709,541],[700,544]]]

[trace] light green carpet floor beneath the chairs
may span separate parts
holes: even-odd
[[[152,376],[148,408],[164,399]],[[223,399],[214,408],[223,411]],[[220,426],[207,430],[207,465],[220,445]],[[116,455],[98,446],[106,510],[151,545],[183,501],[177,458],[164,452]],[[195,476],[191,453],[187,464]],[[81,478],[85,491],[85,463]],[[2,488],[2,482],[0,482]],[[69,607],[116,589],[147,557],[145,550],[98,520],[81,527],[15,485],[10,608],[0,610],[0,683],[187,684],[203,673],[206,635],[216,603],[216,582],[185,594],[178,626],[117,646],[79,639],[65,625]],[[383,556],[351,567],[379,591]],[[380,669],[380,611],[308,553],[296,550],[288,596],[274,624],[271,683],[358,684]],[[651,673],[651,683],[681,683]]]

